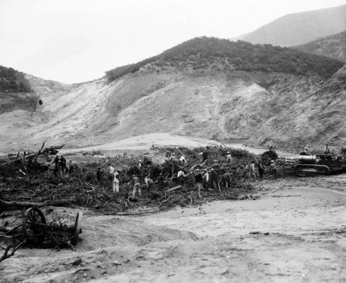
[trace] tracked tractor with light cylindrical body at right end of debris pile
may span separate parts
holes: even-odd
[[[328,147],[322,154],[300,155],[298,161],[298,165],[295,166],[295,173],[298,176],[329,175],[346,170],[346,159],[341,155],[332,154]]]

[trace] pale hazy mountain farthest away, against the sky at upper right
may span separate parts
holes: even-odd
[[[240,38],[253,44],[295,46],[346,30],[346,5],[285,15]]]

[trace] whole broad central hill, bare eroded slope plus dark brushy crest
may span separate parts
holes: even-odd
[[[326,57],[270,45],[228,45],[229,41],[201,38],[188,42],[185,54],[184,44],[123,67],[119,77],[111,71],[100,80],[60,84],[26,75],[43,104],[35,111],[1,113],[0,148],[39,147],[44,141],[85,147],[152,133],[251,138],[251,145],[275,141],[282,148],[291,147],[289,137],[297,136],[295,145],[301,146],[306,133],[285,126],[294,118],[291,111],[302,105],[315,109],[308,103],[312,98],[324,103],[324,94],[316,96],[321,86],[330,84],[330,95],[336,95],[331,82],[343,66]],[[193,55],[191,46],[196,50]],[[218,53],[210,53],[211,49]],[[244,64],[235,63],[240,60]],[[335,91],[345,96],[343,89]],[[329,108],[320,112],[327,120]],[[343,116],[336,118],[343,122]],[[316,131],[325,129],[322,121],[313,125]]]

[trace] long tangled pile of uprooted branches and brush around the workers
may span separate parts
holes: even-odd
[[[62,147],[63,145],[44,148],[42,145],[37,152],[19,152],[1,158],[0,210],[56,204],[114,213],[139,205],[164,209],[217,199],[237,199],[253,190],[253,185],[245,177],[242,180],[242,166],[257,158],[242,149],[222,145],[207,149],[155,147],[140,156],[127,156],[125,153],[114,157],[106,156],[98,162],[69,163],[64,170],[64,167],[57,169],[54,166],[55,156],[52,156]],[[203,151],[206,150],[208,159],[203,162]],[[170,156],[174,155],[174,161],[170,162]],[[116,194],[107,178],[110,163],[119,173],[120,192]],[[100,178],[96,174],[98,170]],[[179,170],[185,173],[183,185],[177,177]],[[198,192],[194,181],[194,174],[198,170],[217,172],[217,182],[209,185],[209,188],[204,184],[204,188]],[[227,188],[219,185],[225,172],[233,174],[233,180]],[[134,175],[140,180],[140,198],[131,196],[131,180]],[[152,180],[151,185],[147,183],[147,179]]]

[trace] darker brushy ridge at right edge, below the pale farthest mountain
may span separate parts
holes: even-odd
[[[322,37],[307,44],[292,46],[292,48],[346,62],[346,31]]]

